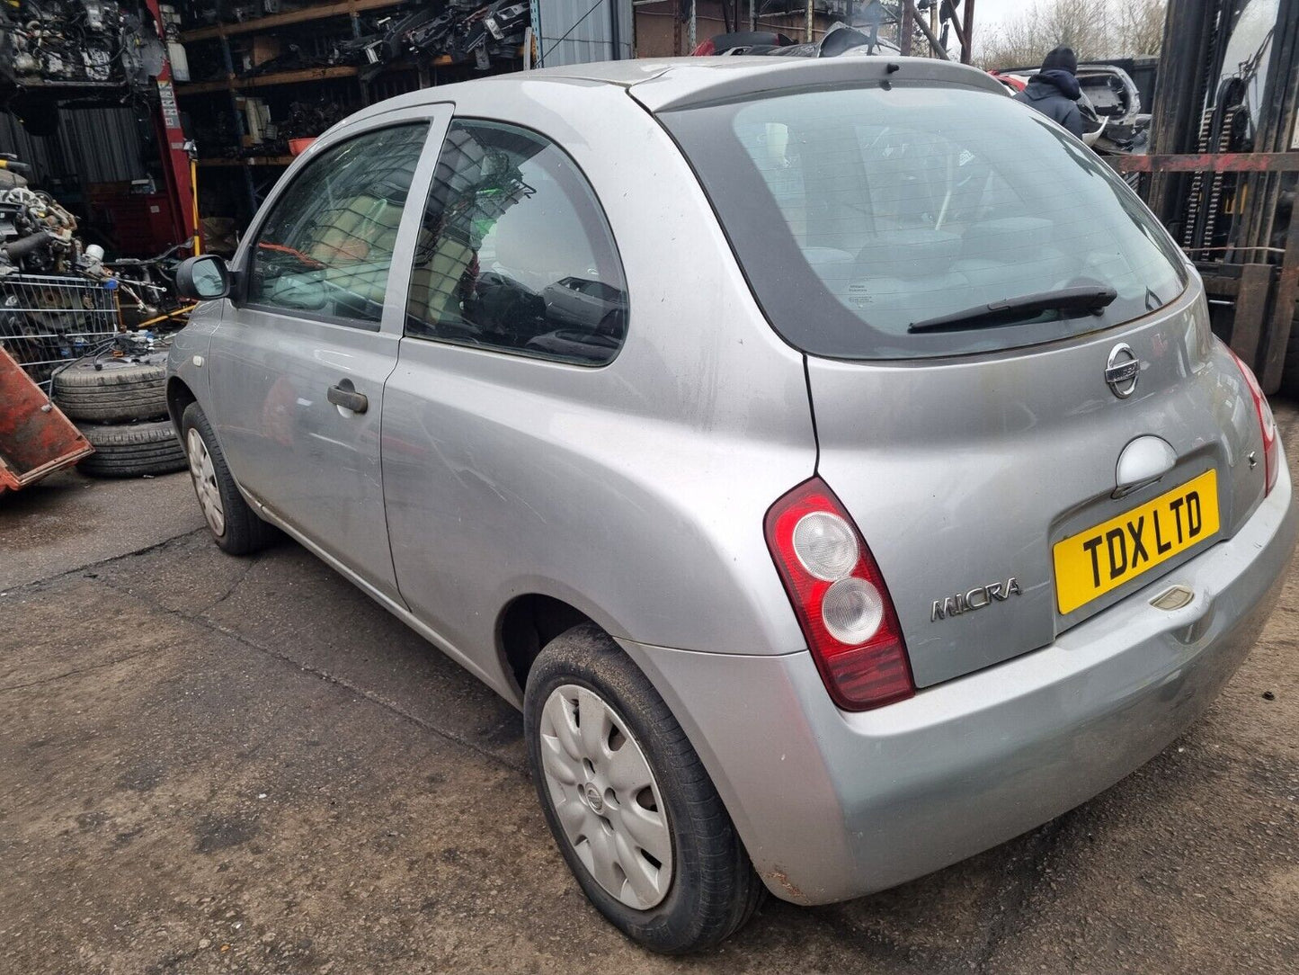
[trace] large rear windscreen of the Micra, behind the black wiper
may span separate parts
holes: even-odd
[[[800,91],[661,116],[772,325],[844,359],[1050,342],[1167,304],[1183,261],[1109,168],[1009,98],[955,87]],[[1108,307],[908,328],[1112,289]]]

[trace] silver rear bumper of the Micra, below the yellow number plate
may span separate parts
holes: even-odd
[[[681,720],[778,897],[881,890],[1085,802],[1191,724],[1270,614],[1299,516],[1285,474],[1229,541],[1051,646],[878,711],[831,703],[807,653],[624,644]],[[1174,582],[1195,598],[1163,611]]]

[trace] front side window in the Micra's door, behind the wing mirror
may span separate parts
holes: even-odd
[[[249,304],[378,324],[426,125],[357,135],[322,153],[275,203],[252,248]]]

